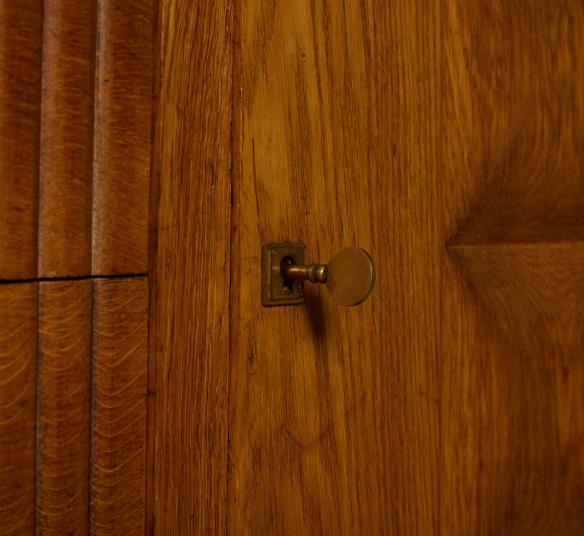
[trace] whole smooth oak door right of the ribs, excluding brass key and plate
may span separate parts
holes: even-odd
[[[165,4],[157,534],[584,532],[583,27],[572,0]],[[373,294],[263,308],[284,241],[368,250]]]

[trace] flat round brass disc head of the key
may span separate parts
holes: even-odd
[[[339,249],[326,265],[326,290],[339,305],[359,305],[374,285],[375,264],[364,249]]]

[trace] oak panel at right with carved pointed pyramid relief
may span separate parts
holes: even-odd
[[[442,11],[440,511],[584,532],[584,7]]]

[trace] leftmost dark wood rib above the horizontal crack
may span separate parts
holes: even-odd
[[[37,274],[42,0],[0,0],[0,280]]]

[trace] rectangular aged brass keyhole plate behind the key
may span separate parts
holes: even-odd
[[[304,281],[284,279],[280,264],[288,257],[291,264],[304,264],[303,243],[262,244],[262,305],[293,305],[304,302]]]

